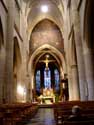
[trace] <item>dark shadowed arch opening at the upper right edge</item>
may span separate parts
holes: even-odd
[[[84,17],[84,38],[86,46],[89,49],[94,49],[94,1],[87,0],[85,6]]]

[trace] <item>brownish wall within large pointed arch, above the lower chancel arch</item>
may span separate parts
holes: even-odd
[[[34,26],[31,32],[29,44],[30,53],[43,44],[50,44],[51,46],[59,49],[61,52],[64,51],[64,39],[60,28],[56,23],[48,18],[41,20]]]

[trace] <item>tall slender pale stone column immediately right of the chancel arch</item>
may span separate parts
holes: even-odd
[[[66,16],[67,15],[67,16]],[[71,63],[70,63],[70,41],[68,39],[68,34],[70,32],[70,19],[69,19],[69,9],[65,8],[65,16],[64,16],[64,50],[65,50],[65,59],[67,71],[65,73],[68,74],[68,88],[69,88],[69,101],[73,99],[73,88],[72,88],[72,74],[71,74]]]

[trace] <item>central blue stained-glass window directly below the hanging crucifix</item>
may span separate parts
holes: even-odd
[[[44,70],[44,87],[51,88],[51,71],[49,68]]]

